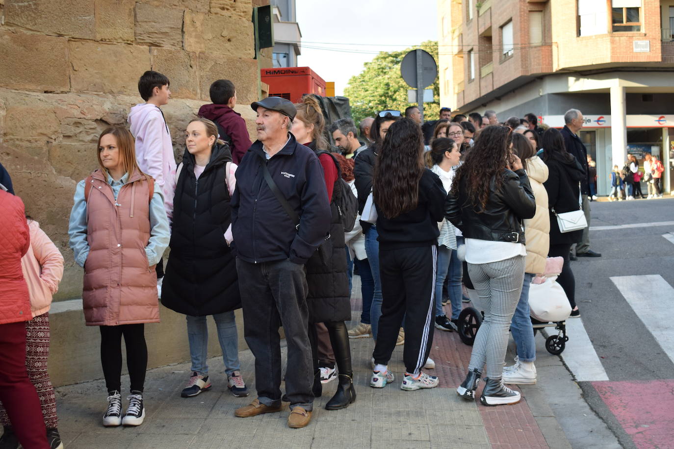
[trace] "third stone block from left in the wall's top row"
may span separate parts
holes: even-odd
[[[183,45],[183,9],[135,5],[135,42],[181,48]]]

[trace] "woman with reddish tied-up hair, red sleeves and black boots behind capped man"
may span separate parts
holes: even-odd
[[[340,188],[338,182],[341,182],[340,166],[338,160],[328,151],[328,142],[323,137],[325,121],[318,101],[307,95],[295,107],[297,114],[291,131],[298,143],[309,147],[318,156],[330,199],[330,238],[321,243],[306,263],[309,340],[313,351],[313,393],[316,397],[321,396],[322,387],[316,326],[312,324],[323,323],[328,329],[339,371],[337,391],[326,404],[326,410],[339,410],[356,401],[351,349],[344,324],[344,321],[351,319],[351,302],[346,275],[344,225],[336,203]]]

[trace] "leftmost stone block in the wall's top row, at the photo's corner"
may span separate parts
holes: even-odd
[[[5,0],[5,22],[49,34],[94,39],[94,0]]]

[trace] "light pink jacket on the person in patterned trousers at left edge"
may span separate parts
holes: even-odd
[[[28,284],[33,318],[49,312],[51,296],[59,290],[63,278],[63,256],[40,223],[28,220],[30,248],[21,258],[21,269]]]

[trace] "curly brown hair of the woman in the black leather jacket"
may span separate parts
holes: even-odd
[[[512,130],[508,127],[491,125],[482,129],[480,138],[466,155],[464,164],[456,170],[452,182],[455,195],[460,190],[460,182],[466,178],[468,200],[473,207],[485,209],[491,193],[491,180],[495,190],[503,184],[503,171],[510,165]]]

